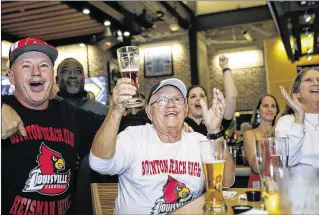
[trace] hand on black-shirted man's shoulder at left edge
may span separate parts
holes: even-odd
[[[15,132],[19,132],[22,136],[26,136],[27,133],[24,129],[23,122],[17,112],[9,105],[2,105],[2,131],[1,138],[7,139]]]

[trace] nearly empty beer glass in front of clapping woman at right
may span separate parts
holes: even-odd
[[[265,207],[269,214],[279,214],[279,179],[288,163],[287,138],[269,137],[255,141],[255,156],[262,182]]]

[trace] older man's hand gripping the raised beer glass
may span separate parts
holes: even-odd
[[[136,87],[130,84],[131,79],[121,78],[113,90],[113,108],[120,114],[125,112],[124,104],[136,94]]]

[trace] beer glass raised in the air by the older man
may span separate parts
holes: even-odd
[[[124,46],[117,49],[117,58],[122,78],[129,78],[131,80],[130,84],[134,85],[138,89],[138,71],[140,64],[140,55],[138,47]],[[125,102],[124,107],[133,108],[143,105],[144,101],[141,98],[139,92],[137,91],[132,99]]]

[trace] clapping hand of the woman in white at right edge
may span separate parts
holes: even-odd
[[[287,105],[291,107],[291,109],[294,111],[296,120],[298,120],[300,123],[303,123],[305,111],[304,111],[303,105],[300,103],[297,97],[297,94],[294,93],[291,99],[291,97],[286,92],[285,88],[282,86],[279,86],[279,87],[280,87],[282,97],[286,100]]]

